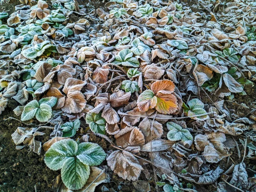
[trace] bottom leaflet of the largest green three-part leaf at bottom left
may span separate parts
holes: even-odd
[[[72,157],[67,159],[61,169],[61,179],[71,190],[81,189],[90,175],[90,166]]]

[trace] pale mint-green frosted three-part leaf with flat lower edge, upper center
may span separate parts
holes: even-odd
[[[140,62],[137,60],[137,58],[133,57],[133,53],[130,49],[123,49],[119,51],[118,54],[115,56],[115,61],[113,61],[113,63],[128,67],[140,66]]]

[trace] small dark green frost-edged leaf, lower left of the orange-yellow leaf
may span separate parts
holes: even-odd
[[[102,118],[102,113],[87,113],[86,123],[89,124],[90,130],[93,133],[105,134],[106,120]]]

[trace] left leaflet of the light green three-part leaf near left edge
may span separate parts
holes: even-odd
[[[29,102],[25,107],[21,114],[21,121],[27,121],[29,119],[32,119],[35,116],[35,113],[37,112],[39,108],[39,104],[37,100],[33,100]]]

